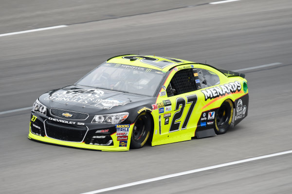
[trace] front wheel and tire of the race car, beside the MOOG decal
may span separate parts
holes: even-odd
[[[149,138],[151,130],[151,120],[146,112],[140,114],[135,121],[132,136],[131,136],[131,149],[138,149],[145,145]]]

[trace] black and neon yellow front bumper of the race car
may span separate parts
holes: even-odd
[[[119,141],[116,136],[115,126],[110,126],[109,132],[107,134],[96,133],[97,130],[105,130],[104,128],[99,128],[99,124],[93,123],[84,123],[83,126],[74,125],[74,124],[64,124],[57,123],[48,120],[48,116],[41,115],[37,112],[32,112],[31,120],[29,125],[29,134],[28,138],[31,140],[42,141],[51,144],[76,147],[81,149],[91,149],[91,150],[100,150],[100,151],[128,151],[131,132],[133,129],[133,124],[130,124],[128,132],[127,141]],[[48,122],[53,125],[57,125],[58,128],[54,128],[51,131],[48,130]],[[73,123],[73,122],[72,122]],[[47,127],[46,127],[47,126]],[[103,126],[104,127],[104,126]],[[83,131],[82,131],[83,130]],[[69,135],[66,133],[74,133],[74,135]],[[57,135],[56,135],[57,134]],[[92,139],[96,136],[105,136],[106,141],[100,143],[101,139]],[[81,137],[81,138],[80,138]],[[109,141],[110,140],[110,141]],[[98,145],[103,144],[103,145]]]

